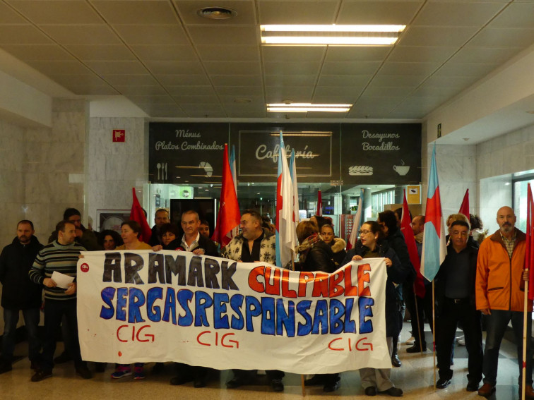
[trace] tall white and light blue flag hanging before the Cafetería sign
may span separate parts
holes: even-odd
[[[297,232],[293,223],[294,192],[291,182],[284,139],[280,131],[278,152],[278,180],[276,183],[276,265],[290,267],[292,250],[297,246]]]

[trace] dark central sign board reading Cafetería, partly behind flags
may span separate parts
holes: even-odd
[[[276,181],[280,131],[288,162],[291,150],[295,150],[299,182],[339,179],[339,124],[232,123],[230,131],[230,143],[236,148],[238,181]]]

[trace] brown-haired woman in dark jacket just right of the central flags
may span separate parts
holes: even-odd
[[[330,245],[325,243],[317,229],[317,225],[311,221],[303,221],[297,225],[297,238],[299,246],[300,270],[304,272],[322,271],[331,274],[337,267],[333,261],[333,253]],[[322,384],[323,392],[333,392],[339,388],[339,374],[317,374],[304,384]]]

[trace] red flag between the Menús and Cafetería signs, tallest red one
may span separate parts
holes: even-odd
[[[239,226],[241,213],[237,203],[232,170],[228,161],[228,145],[225,143],[223,156],[223,187],[220,188],[219,213],[217,214],[217,226],[211,236],[212,241],[220,243],[220,247],[225,247],[234,236],[232,230]]]

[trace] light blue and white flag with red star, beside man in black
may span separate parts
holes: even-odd
[[[439,182],[436,167],[436,144],[432,150],[432,162],[428,178],[427,208],[425,211],[425,234],[421,255],[421,274],[433,281],[441,262],[445,260],[445,224],[439,198]]]

